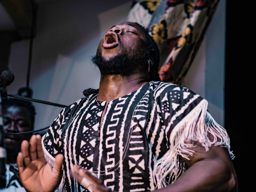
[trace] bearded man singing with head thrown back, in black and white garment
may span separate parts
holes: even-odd
[[[17,157],[28,191],[237,191],[234,154],[208,102],[160,81],[159,50],[135,22],[111,27],[92,62],[98,92],[61,110]]]

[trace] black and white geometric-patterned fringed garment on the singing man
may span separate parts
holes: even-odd
[[[166,187],[188,169],[180,157],[193,152],[185,139],[206,150],[212,144],[227,147],[234,156],[226,130],[207,111],[208,102],[185,87],[151,81],[112,100],[101,128],[106,101],[98,101],[97,95],[64,108],[42,139],[49,164],[53,166],[58,153],[64,155],[57,191],[92,191],[70,178],[74,164],[94,172],[115,191]]]

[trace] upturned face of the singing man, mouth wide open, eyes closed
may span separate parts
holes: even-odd
[[[110,28],[100,41],[97,54],[108,60],[116,55],[127,53],[129,56],[140,54],[146,45],[146,39],[140,27],[124,22]]]

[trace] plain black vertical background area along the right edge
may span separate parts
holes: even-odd
[[[249,4],[227,0],[225,128],[236,156],[233,164],[239,192],[254,190],[251,188],[254,184],[254,146],[250,144],[253,141],[250,136],[254,136],[254,86],[250,86],[249,72],[253,69],[255,53],[250,52],[254,46],[254,24],[250,22],[253,20],[253,11],[249,7]],[[248,174],[249,171],[251,174]]]

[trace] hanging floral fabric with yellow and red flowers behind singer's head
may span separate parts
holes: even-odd
[[[137,0],[128,20],[151,29],[161,56],[161,81],[181,84],[219,0]]]

